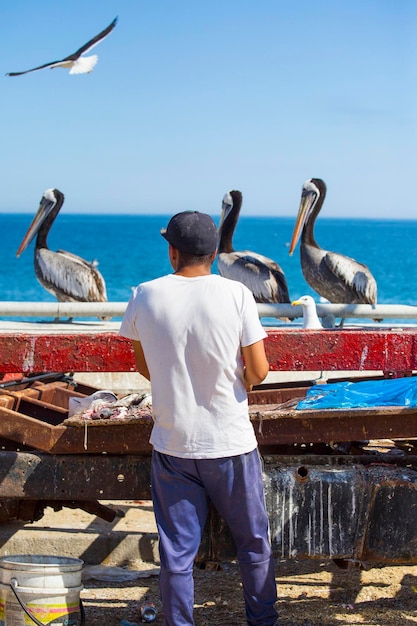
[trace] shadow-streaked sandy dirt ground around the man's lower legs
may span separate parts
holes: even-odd
[[[332,562],[277,560],[276,580],[280,626],[417,624],[417,566],[360,571]],[[139,605],[146,600],[159,611],[155,626],[164,624],[156,575],[128,583],[87,580],[81,598],[86,626],[118,626],[122,619],[140,624]],[[218,571],[195,569],[194,615],[196,626],[246,624],[236,563],[223,563]]]

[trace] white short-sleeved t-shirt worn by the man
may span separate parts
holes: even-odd
[[[241,347],[266,337],[252,293],[217,274],[170,274],[134,290],[120,328],[151,376],[154,449],[181,458],[250,452]]]

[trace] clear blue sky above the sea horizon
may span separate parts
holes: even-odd
[[[105,28],[91,74],[45,69]],[[414,0],[2,0],[1,212],[416,217]]]

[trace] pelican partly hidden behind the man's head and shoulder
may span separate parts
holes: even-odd
[[[257,252],[234,250],[232,237],[241,206],[240,191],[233,190],[225,194],[218,227],[219,274],[246,285],[252,291],[256,302],[290,302],[284,272],[275,261]]]

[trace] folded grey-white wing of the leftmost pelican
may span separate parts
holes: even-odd
[[[106,302],[106,286],[100,272],[75,254],[42,248],[37,254],[39,277],[61,301]],[[59,295],[58,295],[59,294]]]

